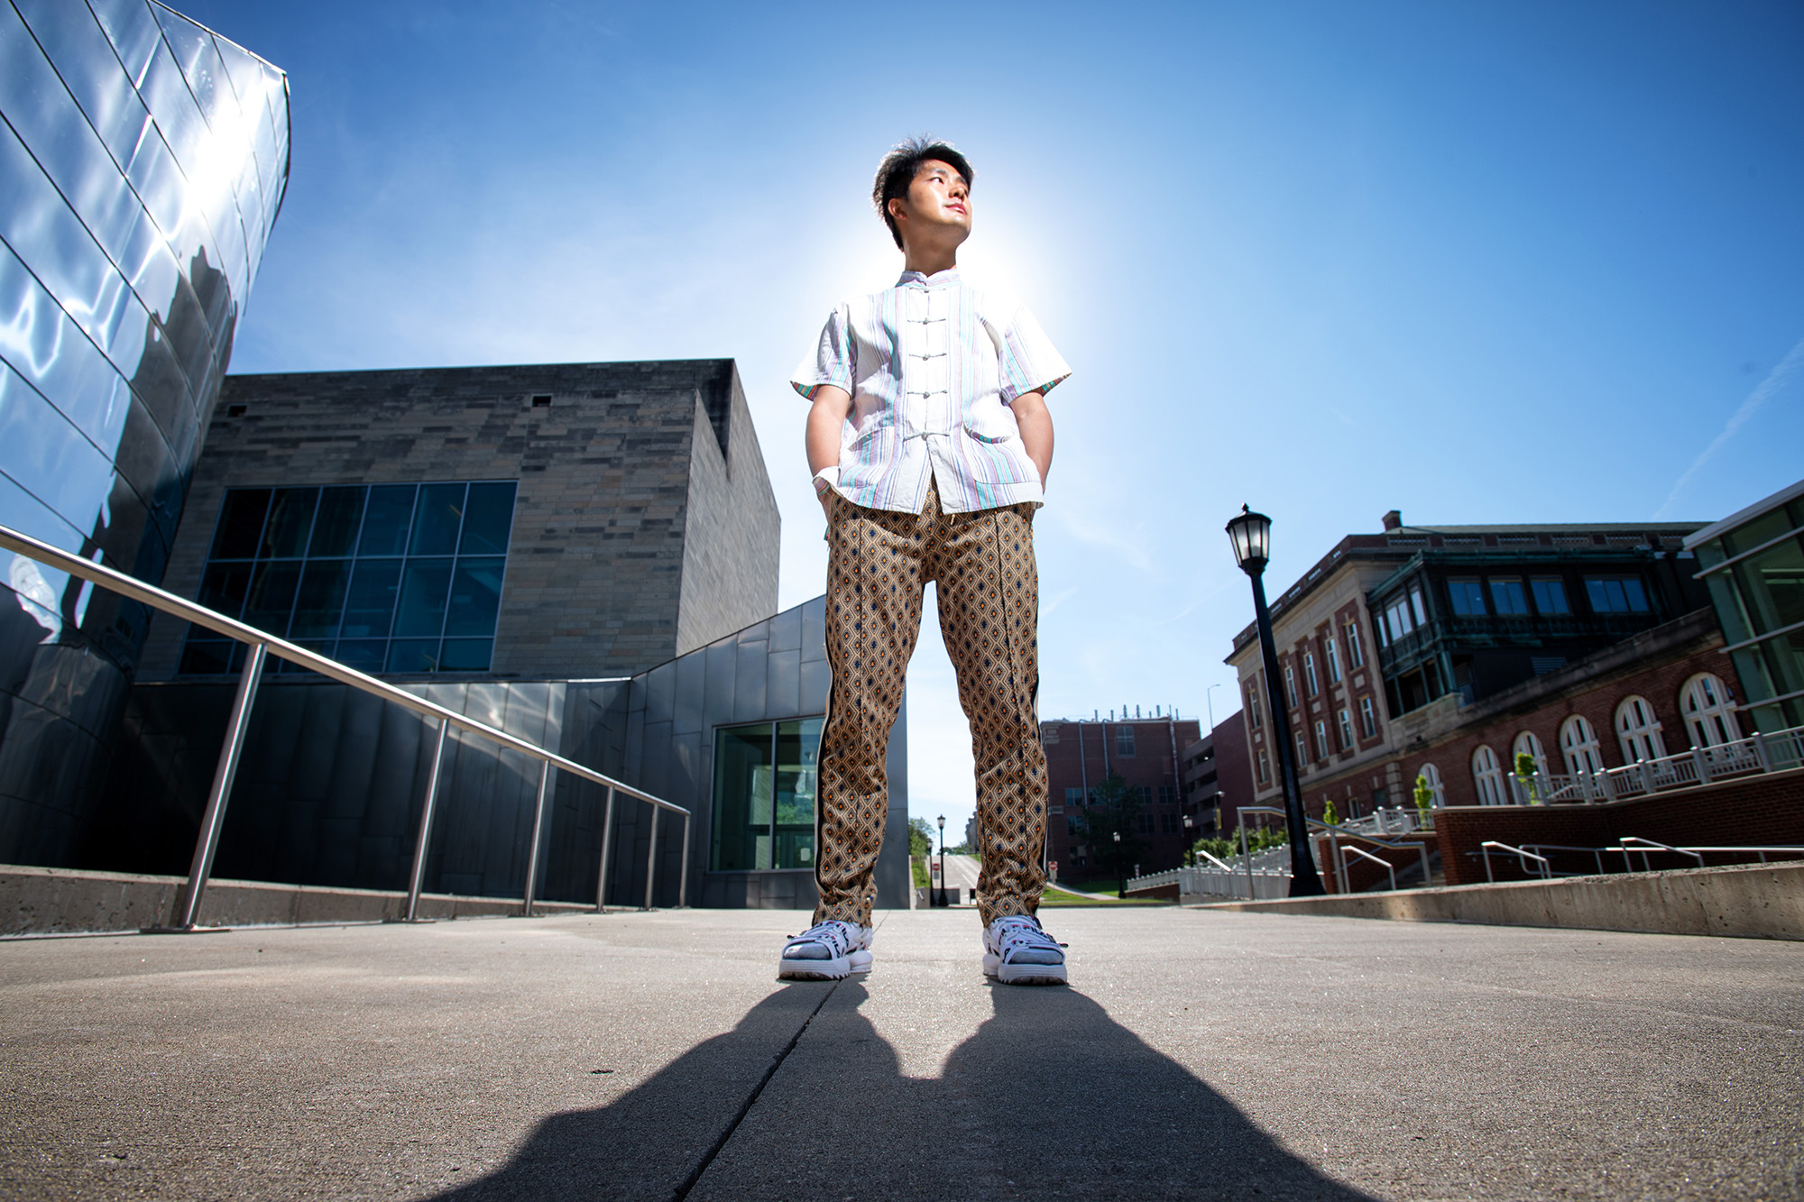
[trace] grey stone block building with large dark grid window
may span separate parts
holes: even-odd
[[[776,612],[778,532],[731,359],[235,375],[166,587],[366,671],[619,677]],[[139,679],[227,653],[157,621]]]

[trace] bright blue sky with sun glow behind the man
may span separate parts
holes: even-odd
[[[783,605],[824,578],[785,379],[898,271],[877,159],[958,143],[967,274],[1075,368],[1046,717],[1225,717],[1241,502],[1275,592],[1393,507],[1714,520],[1804,475],[1797,4],[179,7],[294,94],[235,370],[732,356]],[[962,828],[931,617],[909,736]]]

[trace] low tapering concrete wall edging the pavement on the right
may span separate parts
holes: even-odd
[[[1804,863],[1218,902],[1207,910],[1804,938]]]

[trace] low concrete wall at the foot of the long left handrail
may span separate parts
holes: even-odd
[[[0,865],[0,937],[137,931],[171,920],[182,877],[69,872]],[[213,881],[200,899],[200,926],[307,926],[399,919],[406,897],[262,881]],[[592,906],[534,902],[534,913],[583,913]],[[520,913],[520,899],[422,893],[422,919]]]

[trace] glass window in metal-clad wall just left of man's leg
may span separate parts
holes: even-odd
[[[711,872],[814,868],[819,751],[821,718],[714,733]]]

